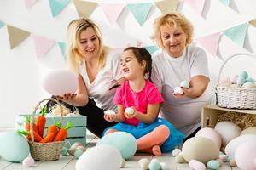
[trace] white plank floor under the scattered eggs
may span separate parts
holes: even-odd
[[[0,129],[0,132],[2,131],[8,131],[11,129]],[[96,145],[97,142],[96,136],[94,136],[91,133],[88,133],[87,135],[87,148],[93,147]],[[151,160],[152,158],[157,158],[160,162],[166,162],[167,169],[170,170],[189,170],[188,164],[177,164],[175,162],[174,157],[171,153],[164,154],[163,156],[150,156],[146,154],[136,154],[135,156],[132,156],[131,159],[126,160],[125,167],[121,169],[132,169],[132,170],[139,170],[140,167],[137,164],[137,161],[139,161],[141,158],[148,158]],[[33,167],[22,167],[21,163],[11,163],[8,161],[4,161],[2,158],[0,158],[0,170],[74,170],[75,169],[75,163],[77,159],[75,159],[73,156],[61,156],[58,161],[36,161],[35,165]],[[104,167],[102,167],[102,170]],[[100,169],[96,169],[100,170]],[[225,163],[220,170],[239,170],[239,168],[232,168],[227,163]]]

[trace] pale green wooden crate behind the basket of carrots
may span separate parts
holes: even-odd
[[[25,130],[25,119],[26,116],[31,116],[27,114],[21,114],[15,116],[15,129]],[[37,116],[35,116],[37,117]],[[46,124],[44,128],[44,134],[47,133],[47,128],[49,125],[53,124],[54,122],[60,122],[60,117],[46,117]],[[66,126],[67,122],[72,122],[73,127],[67,130],[67,139],[65,146],[67,148],[70,147],[74,142],[80,142],[82,144],[86,144],[86,116],[70,116],[70,117],[63,117],[63,124],[62,126]]]

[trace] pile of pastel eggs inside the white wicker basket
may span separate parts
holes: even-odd
[[[255,79],[249,77],[247,71],[241,71],[239,75],[224,77],[219,85],[231,88],[256,88]]]

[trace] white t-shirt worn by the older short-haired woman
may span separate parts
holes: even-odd
[[[169,56],[165,50],[160,50],[153,56],[151,79],[165,100],[160,116],[172,122],[186,136],[200,127],[201,108],[210,103],[212,93],[207,88],[199,98],[177,99],[172,95],[172,90],[180,82],[189,82],[191,77],[197,75],[209,77],[207,54],[201,48],[189,45],[178,58]]]

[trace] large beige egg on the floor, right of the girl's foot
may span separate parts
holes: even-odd
[[[195,136],[186,140],[183,144],[182,153],[186,161],[195,159],[203,163],[218,158],[218,144],[211,139]]]

